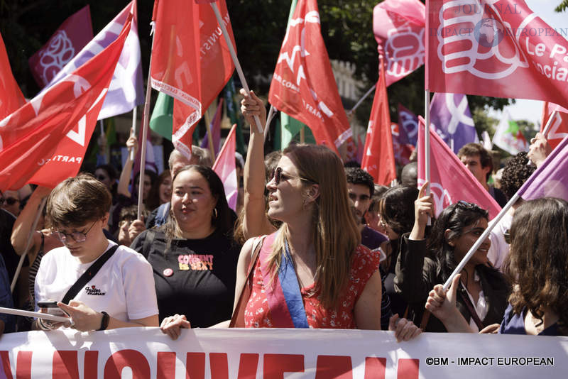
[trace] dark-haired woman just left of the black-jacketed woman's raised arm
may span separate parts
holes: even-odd
[[[414,201],[418,196],[416,187],[398,186],[389,188],[378,202],[381,226],[388,236],[388,241],[381,246],[386,259],[381,262],[381,274],[384,275],[385,291],[391,300],[393,313],[403,317],[408,307],[407,302],[395,291],[396,260],[400,253],[400,241],[403,234],[410,232],[414,224]]]

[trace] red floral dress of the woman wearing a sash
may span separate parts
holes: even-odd
[[[322,306],[319,290],[310,296],[315,285],[309,285],[300,290],[310,328],[356,329],[353,310],[361,292],[363,292],[371,275],[378,270],[380,253],[370,251],[360,245],[351,261],[349,284],[339,302],[339,307],[326,309]],[[256,260],[252,280],[251,296],[246,303],[244,324],[246,328],[272,328],[271,312],[264,292],[261,260]],[[250,285],[250,283],[249,283]]]

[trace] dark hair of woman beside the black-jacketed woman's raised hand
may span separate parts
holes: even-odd
[[[409,186],[389,188],[378,202],[381,219],[399,236],[408,233],[414,225],[414,201],[418,189]]]

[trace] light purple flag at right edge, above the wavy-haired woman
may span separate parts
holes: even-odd
[[[559,197],[568,201],[568,136],[532,172],[518,194],[525,200]]]

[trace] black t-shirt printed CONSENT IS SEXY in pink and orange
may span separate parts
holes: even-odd
[[[149,233],[155,234],[153,242],[144,243]],[[230,319],[241,246],[217,231],[202,239],[174,239],[164,254],[165,246],[159,229],[143,231],[131,245],[152,265],[160,322],[176,313],[185,314],[192,327]]]

